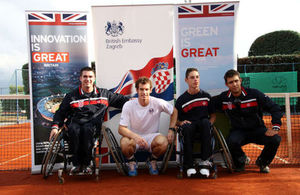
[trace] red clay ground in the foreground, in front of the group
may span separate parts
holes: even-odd
[[[177,179],[178,170],[150,176],[139,170],[134,178],[120,176],[115,170],[101,172],[100,181],[93,176],[65,176],[59,184],[57,175],[44,180],[30,172],[0,172],[0,194],[300,194],[300,168],[273,168],[271,173],[248,169],[243,173],[220,170],[217,179]]]

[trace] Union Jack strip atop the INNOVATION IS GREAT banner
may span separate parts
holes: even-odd
[[[86,13],[28,13],[29,25],[86,26]]]

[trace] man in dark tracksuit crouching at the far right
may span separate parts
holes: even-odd
[[[217,109],[222,109],[231,121],[232,129],[227,138],[236,171],[243,171],[246,157],[242,146],[248,143],[264,145],[256,160],[260,172],[269,173],[268,165],[274,159],[281,137],[278,135],[282,113],[280,107],[262,92],[243,88],[239,72],[229,70],[224,76],[228,91],[215,98]],[[263,121],[263,111],[272,116],[272,129],[267,129]]]

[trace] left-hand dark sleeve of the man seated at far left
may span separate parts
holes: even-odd
[[[58,110],[55,112],[53,116],[52,128],[53,127],[59,128],[63,126],[65,119],[68,117],[68,115],[71,112],[70,102],[71,102],[71,95],[67,94],[64,97],[62,103],[59,105]]]

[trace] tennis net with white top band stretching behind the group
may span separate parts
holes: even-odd
[[[280,103],[284,111],[283,125],[280,130],[282,142],[272,165],[300,165],[300,93],[267,94]],[[0,96],[0,170],[29,170],[31,168],[31,130],[29,113],[18,105],[29,103],[29,95]],[[297,104],[291,105],[291,99]],[[11,108],[11,109],[8,109]],[[271,116],[264,114],[266,126],[271,128]],[[246,154],[255,159],[263,146],[248,144]]]

